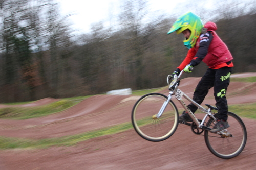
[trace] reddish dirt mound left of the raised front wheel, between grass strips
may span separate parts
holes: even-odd
[[[119,110],[126,109],[126,111],[129,110],[129,114],[131,113],[131,109],[125,106],[129,102],[120,102],[125,98],[127,96],[95,95],[53,115],[26,120],[0,119],[0,134],[8,137],[41,139],[78,134],[110,126],[113,116],[120,117],[119,120],[122,122],[127,122],[130,116],[124,117],[123,113],[119,112]]]

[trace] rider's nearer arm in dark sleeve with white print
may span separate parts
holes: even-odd
[[[211,32],[207,31],[205,34],[200,35],[199,48],[195,57],[190,61],[193,66],[198,65],[208,53],[210,42],[213,38]]]

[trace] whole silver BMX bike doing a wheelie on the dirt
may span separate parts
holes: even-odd
[[[181,124],[190,126],[192,132],[197,135],[204,132],[205,143],[212,154],[223,159],[238,156],[243,151],[247,140],[246,127],[242,119],[238,115],[228,112],[230,127],[217,133],[211,133],[210,130],[217,121],[217,113],[213,110],[218,110],[218,108],[208,104],[205,104],[207,108],[204,108],[178,89],[183,72],[184,70],[178,76],[175,75],[170,83],[171,75],[168,75],[168,96],[161,93],[149,93],[143,95],[135,103],[132,110],[132,124],[135,131],[142,138],[154,142],[163,141],[172,136],[179,124],[178,109],[172,101],[174,96],[193,119],[192,123],[182,122]],[[188,109],[183,98],[205,113],[202,120]]]

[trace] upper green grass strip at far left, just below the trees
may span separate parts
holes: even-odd
[[[60,100],[44,106],[0,108],[0,118],[28,119],[63,111],[77,104],[77,101]]]

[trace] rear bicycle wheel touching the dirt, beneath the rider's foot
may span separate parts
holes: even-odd
[[[207,148],[212,154],[223,159],[238,156],[243,151],[247,140],[247,131],[242,119],[232,112],[228,112],[227,115],[230,125],[227,130],[232,136],[222,137],[220,134],[204,132]],[[210,118],[206,126],[212,128],[214,119]]]

